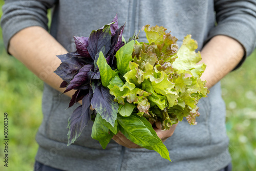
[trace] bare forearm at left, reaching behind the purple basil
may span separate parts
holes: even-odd
[[[8,51],[42,81],[60,92],[65,90],[59,88],[62,79],[54,71],[61,63],[56,55],[67,50],[45,29],[35,26],[19,31],[11,38]],[[65,94],[72,97],[74,91]]]

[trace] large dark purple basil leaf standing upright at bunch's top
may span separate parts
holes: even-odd
[[[110,25],[105,25],[104,28],[93,30],[88,39],[88,51],[92,59],[95,59],[96,54],[104,49],[103,54],[110,50],[111,32]]]

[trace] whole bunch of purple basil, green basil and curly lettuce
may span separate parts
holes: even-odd
[[[76,52],[58,56],[62,63],[55,73],[63,79],[63,93],[76,90],[69,107],[82,100],[68,120],[68,145],[92,120],[92,138],[103,148],[121,131],[170,160],[151,123],[160,121],[167,130],[186,117],[196,124],[198,100],[208,93],[200,79],[206,66],[197,65],[201,55],[191,35],[178,50],[177,38],[164,27],[144,26],[148,43],[137,41],[138,35],[125,42],[123,29],[116,15],[89,37],[74,36]]]

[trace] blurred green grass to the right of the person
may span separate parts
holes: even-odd
[[[222,80],[233,170],[256,170],[256,51]]]

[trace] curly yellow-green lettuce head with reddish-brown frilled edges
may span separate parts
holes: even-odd
[[[164,27],[146,25],[142,30],[148,43],[130,41],[117,52],[117,68],[125,72],[110,83],[110,93],[120,104],[136,105],[137,115],[161,121],[163,130],[184,117],[196,124],[198,100],[208,93],[200,79],[206,65],[198,64],[197,42],[187,35],[178,49],[177,38]],[[122,83],[115,85],[117,80]]]

